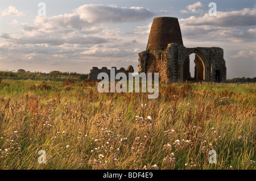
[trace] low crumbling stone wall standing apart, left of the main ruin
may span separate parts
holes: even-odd
[[[115,75],[117,75],[118,73],[125,73],[127,78],[129,76],[129,73],[134,73],[134,69],[133,69],[133,66],[128,66],[127,69],[125,68],[120,68],[119,70],[117,70],[116,67],[112,67],[112,69],[115,70]],[[111,69],[108,69],[106,67],[102,67],[101,69],[98,69],[97,67],[93,67],[91,70],[90,70],[90,73],[88,75],[88,79],[90,79],[91,81],[97,81],[98,79],[98,74],[100,73],[107,73],[109,75],[109,79],[110,79],[110,70]],[[109,80],[110,81],[110,80]]]

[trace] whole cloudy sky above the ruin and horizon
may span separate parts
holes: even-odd
[[[0,1],[0,71],[138,71],[138,53],[160,16],[179,19],[185,47],[224,49],[228,79],[256,77],[255,0]]]

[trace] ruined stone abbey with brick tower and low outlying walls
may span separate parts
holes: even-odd
[[[196,54],[194,77],[189,72],[189,55],[192,53]],[[98,73],[109,71],[93,68],[88,78],[96,80]],[[133,68],[121,68],[118,72],[133,72]],[[178,19],[159,17],[153,20],[146,50],[139,53],[138,72],[159,73],[160,82],[225,82],[224,51],[218,47],[184,47]]]

